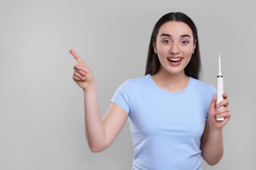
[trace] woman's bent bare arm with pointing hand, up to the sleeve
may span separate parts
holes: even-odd
[[[92,152],[100,152],[110,146],[127,120],[127,112],[110,104],[104,118],[100,117],[95,78],[85,62],[74,52],[70,53],[77,60],[73,79],[83,89],[85,107],[85,133]]]

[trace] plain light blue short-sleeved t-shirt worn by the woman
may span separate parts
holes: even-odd
[[[159,88],[150,75],[121,84],[111,102],[129,114],[133,169],[202,169],[200,140],[215,92],[192,77],[175,93]]]

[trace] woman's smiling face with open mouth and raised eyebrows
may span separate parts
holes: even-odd
[[[154,52],[161,63],[160,71],[184,73],[195,48],[192,30],[184,22],[166,22],[161,25],[154,43]]]

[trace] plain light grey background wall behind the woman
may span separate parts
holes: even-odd
[[[0,1],[0,169],[131,169],[129,124],[104,152],[85,140],[73,48],[95,74],[102,115],[117,87],[144,75],[150,34],[181,11],[198,27],[202,80],[222,53],[232,119],[224,156],[203,169],[255,169],[256,10],[253,1]]]

